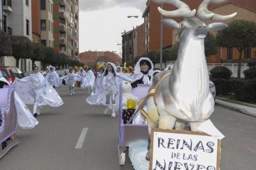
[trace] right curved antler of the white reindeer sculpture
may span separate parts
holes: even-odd
[[[197,10],[197,17],[200,20],[208,20],[208,19],[214,19],[214,20],[226,20],[234,17],[237,15],[237,12],[230,14],[230,15],[219,15],[214,12],[211,12],[207,9],[207,6],[209,3],[213,4],[221,4],[224,3],[226,0],[204,0],[201,5],[199,6]]]

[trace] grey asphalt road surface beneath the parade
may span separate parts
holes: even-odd
[[[20,143],[0,159],[0,169],[133,169],[127,154],[125,166],[118,163],[118,118],[88,105],[85,90],[76,89],[73,96],[68,87],[57,91],[64,105],[42,108],[36,128],[18,129]],[[226,136],[221,169],[254,170],[256,118],[216,106],[211,120]],[[86,137],[76,149],[82,130]]]

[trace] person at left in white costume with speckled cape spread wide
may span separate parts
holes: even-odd
[[[26,104],[33,104],[33,114],[40,114],[38,107],[49,105],[51,107],[59,107],[63,104],[62,99],[57,91],[49,84],[49,82],[38,72],[37,66],[33,67],[33,74],[23,79],[15,79],[15,91]]]

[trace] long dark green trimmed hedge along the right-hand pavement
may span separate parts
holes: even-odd
[[[256,79],[212,79],[216,86],[216,94],[234,94],[241,102],[256,103]]]

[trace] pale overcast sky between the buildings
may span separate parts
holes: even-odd
[[[143,23],[147,0],[79,0],[79,52],[116,51],[121,32]],[[138,15],[138,18],[127,18]]]

